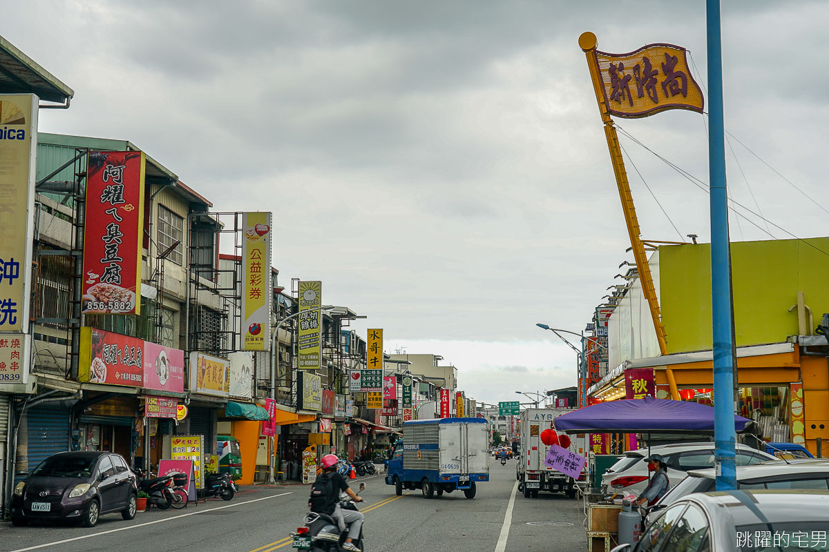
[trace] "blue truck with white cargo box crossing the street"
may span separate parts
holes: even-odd
[[[477,483],[489,481],[489,430],[483,418],[412,420],[403,424],[403,439],[395,444],[385,483],[420,489],[425,498],[463,491],[474,498]]]

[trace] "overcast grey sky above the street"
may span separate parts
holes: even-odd
[[[726,127],[825,207],[827,2],[724,4]],[[216,210],[273,211],[282,285],[322,280],[361,334],[444,356],[481,401],[575,385],[535,324],[584,329],[633,260],[579,34],[685,46],[707,84],[702,0],[3,5],[0,34],[75,90],[41,132],[129,140]],[[619,124],[707,182],[704,116]],[[628,160],[643,236],[708,241],[708,195],[621,140],[672,221]],[[827,211],[731,145],[736,201],[827,235]],[[748,216],[733,240],[790,237]]]

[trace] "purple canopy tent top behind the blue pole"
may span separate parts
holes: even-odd
[[[738,433],[754,422],[734,415]],[[696,402],[628,399],[584,406],[555,419],[555,429],[574,433],[695,433],[714,434],[714,408]]]

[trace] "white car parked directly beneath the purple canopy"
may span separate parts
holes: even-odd
[[[650,449],[629,450],[602,474],[602,485],[607,492],[637,496],[641,494],[647,488],[648,471],[644,460],[648,454],[662,454],[662,458],[665,458],[671,487],[685,478],[688,470],[714,467],[714,444],[710,442],[660,444]],[[738,466],[777,459],[746,444],[737,444]]]

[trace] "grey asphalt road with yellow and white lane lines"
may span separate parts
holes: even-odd
[[[504,552],[505,550],[586,550],[581,501],[541,493],[536,499],[516,491],[515,462],[490,463],[490,482],[468,500],[453,492],[427,500],[419,491],[396,497],[382,476],[358,478],[366,514],[366,550],[379,552]],[[356,487],[356,485],[355,485]],[[249,487],[230,502],[210,500],[186,509],[119,514],[98,525],[13,527],[0,523],[0,551],[195,550],[272,552],[293,550],[287,538],[301,524],[308,486]]]

